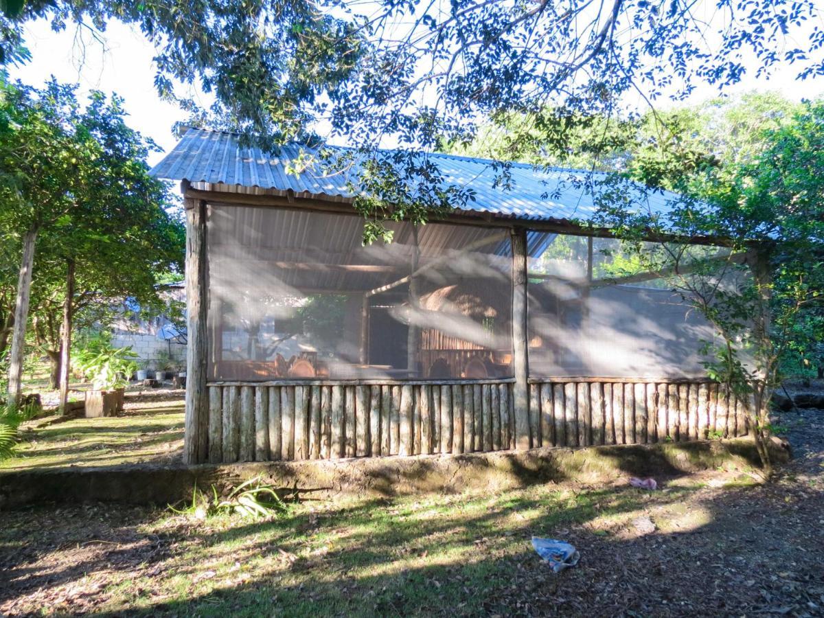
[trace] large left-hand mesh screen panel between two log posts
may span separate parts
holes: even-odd
[[[212,380],[509,377],[506,229],[209,206]]]

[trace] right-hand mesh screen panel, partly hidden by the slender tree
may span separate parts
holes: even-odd
[[[700,349],[714,329],[660,274],[620,241],[541,236],[527,284],[531,377],[705,375]]]

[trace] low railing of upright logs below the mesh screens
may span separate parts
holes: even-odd
[[[339,459],[517,447],[514,380],[208,384],[208,461]],[[533,447],[740,436],[743,406],[706,381],[555,378],[528,387]]]

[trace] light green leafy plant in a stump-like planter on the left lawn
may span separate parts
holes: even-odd
[[[123,410],[126,377],[138,368],[131,347],[114,348],[108,341],[78,359],[84,375],[91,377],[91,390],[86,392],[86,416],[111,416]]]

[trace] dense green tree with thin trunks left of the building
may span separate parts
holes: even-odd
[[[35,340],[52,361],[64,405],[75,311],[127,294],[157,303],[157,276],[180,269],[184,232],[166,212],[171,208],[166,187],[148,175],[145,157],[153,145],[125,124],[119,99],[94,92],[81,109],[73,87],[50,82],[43,91],[21,84],[8,88],[16,95],[19,129],[0,147],[26,157],[18,161],[10,154],[5,161],[18,182],[3,206],[11,211],[21,201],[26,204],[26,212],[7,219],[10,230],[34,228],[41,236],[36,263],[33,244],[26,255],[26,272],[38,269]],[[43,151],[66,165],[49,165],[48,158],[40,158]],[[28,161],[36,166],[26,166]],[[21,281],[17,296],[28,297],[30,288]],[[22,316],[15,336],[25,342],[25,333]],[[12,346],[15,355],[21,358],[22,345]],[[20,370],[12,363],[12,401],[19,396]]]

